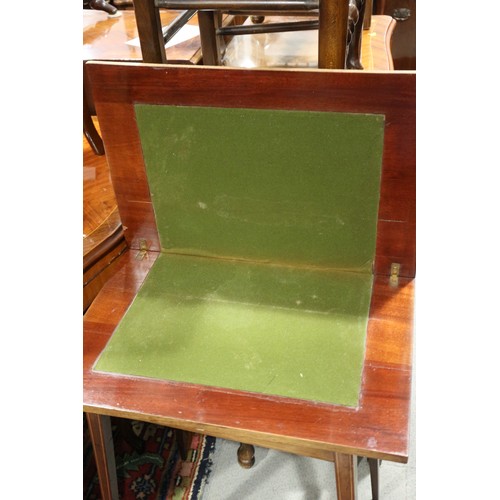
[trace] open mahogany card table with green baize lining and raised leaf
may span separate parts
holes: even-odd
[[[415,73],[88,71],[129,247],[84,316],[103,498],[117,416],[334,462],[353,500],[357,456],[408,459]]]

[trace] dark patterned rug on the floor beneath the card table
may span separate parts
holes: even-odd
[[[122,500],[199,500],[211,472],[215,438],[195,434],[183,461],[174,431],[112,418],[118,490]],[[87,421],[83,424],[83,498],[101,492]],[[133,442],[133,444],[132,444]]]

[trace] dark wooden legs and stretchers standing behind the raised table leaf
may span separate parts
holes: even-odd
[[[135,0],[135,13],[145,62],[167,62],[161,41],[159,12],[164,9],[195,9],[201,32],[203,63],[220,65],[227,36],[252,32],[318,29],[318,66],[328,69],[361,67],[361,33],[365,0]],[[222,14],[236,16],[316,15],[317,19],[293,23],[257,24],[254,27],[233,23],[224,26]],[[274,25],[274,27],[273,27]]]

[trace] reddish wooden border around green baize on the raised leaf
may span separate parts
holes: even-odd
[[[386,127],[375,273],[388,275],[397,262],[401,276],[415,276],[415,72],[119,63],[89,63],[87,69],[132,248],[145,240],[150,250],[160,250],[133,103],[376,113],[385,115]]]

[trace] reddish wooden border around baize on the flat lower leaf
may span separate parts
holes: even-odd
[[[84,317],[84,410],[332,460],[406,462],[414,284],[376,277],[358,408],[99,373],[92,367],[159,254],[129,250]]]

